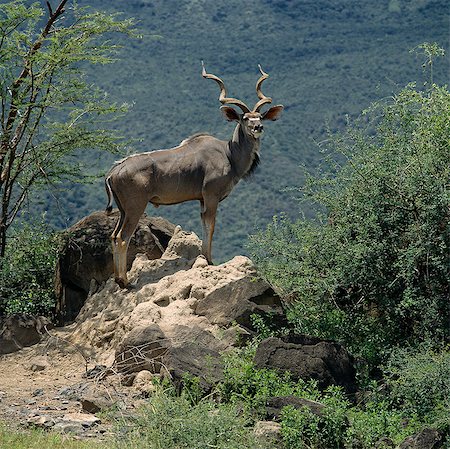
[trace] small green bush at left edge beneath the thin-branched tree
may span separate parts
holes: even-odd
[[[0,259],[0,316],[52,316],[57,247],[57,236],[44,221],[15,229]]]

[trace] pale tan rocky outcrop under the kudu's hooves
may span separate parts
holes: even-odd
[[[130,288],[111,278],[86,300],[71,341],[114,372],[175,383],[190,373],[208,389],[222,378],[220,354],[251,332],[250,315],[282,310],[250,259],[210,266],[200,253],[198,237],[177,227],[161,258],[136,257]]]

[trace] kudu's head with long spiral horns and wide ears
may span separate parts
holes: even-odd
[[[258,67],[259,71],[261,72],[261,76],[256,83],[256,93],[258,95],[259,101],[255,104],[252,110],[250,110],[250,108],[243,101],[238,100],[237,98],[227,97],[224,82],[219,77],[210,73],[206,73],[203,61],[202,67],[203,78],[209,78],[216,81],[220,87],[219,101],[224,105],[221,106],[220,109],[222,110],[225,118],[228,121],[236,121],[240,123],[242,130],[248,136],[251,136],[254,139],[258,139],[264,131],[262,122],[264,120],[275,121],[280,117],[281,111],[283,110],[282,105],[272,106],[266,112],[261,112],[261,108],[265,104],[272,103],[272,98],[266,97],[261,91],[261,85],[263,81],[269,77],[269,75],[263,71],[260,65],[258,65]],[[236,111],[236,109],[233,109],[229,106],[225,106],[226,104],[238,106],[242,110],[242,113],[239,113],[238,111]]]

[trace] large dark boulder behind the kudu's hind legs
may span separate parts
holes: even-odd
[[[55,276],[60,324],[73,321],[89,292],[98,289],[113,273],[110,236],[118,217],[118,211],[110,215],[94,212],[64,232]],[[138,253],[149,259],[161,257],[174,229],[175,225],[163,218],[144,215],[130,242],[128,268]]]

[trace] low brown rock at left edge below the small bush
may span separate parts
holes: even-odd
[[[39,343],[45,329],[52,327],[50,320],[42,316],[15,314],[0,318],[0,355]]]

